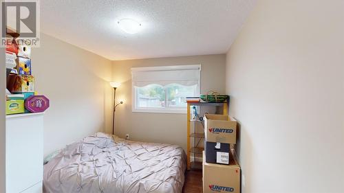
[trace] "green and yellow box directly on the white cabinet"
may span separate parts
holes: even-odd
[[[7,95],[6,96],[6,115],[24,113],[24,95]]]

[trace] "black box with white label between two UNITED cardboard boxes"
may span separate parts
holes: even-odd
[[[228,165],[233,157],[230,154],[230,144],[204,142],[206,163],[219,163]]]

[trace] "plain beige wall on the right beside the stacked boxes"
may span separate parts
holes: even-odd
[[[343,192],[343,13],[343,1],[258,1],[230,47],[243,192]]]

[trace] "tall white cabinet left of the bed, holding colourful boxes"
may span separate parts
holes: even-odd
[[[41,193],[43,113],[6,116],[6,192]]]

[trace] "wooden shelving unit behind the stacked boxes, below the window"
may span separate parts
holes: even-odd
[[[200,141],[204,140],[204,129],[202,133],[198,132],[195,129],[197,124],[204,125],[204,122],[201,120],[192,120],[191,117],[191,107],[192,106],[213,106],[214,108],[221,108],[222,114],[227,115],[227,106],[226,102],[188,102],[187,103],[187,144],[188,144],[188,152],[187,152],[187,167],[188,170],[202,170],[202,151],[204,148],[199,146]],[[203,116],[203,115],[202,115]],[[193,128],[191,127],[193,124]],[[204,126],[203,126],[204,127]],[[193,139],[194,143],[192,143],[191,139]],[[198,142],[195,143],[195,140]],[[203,141],[204,143],[204,141]],[[202,143],[202,144],[203,144]]]

